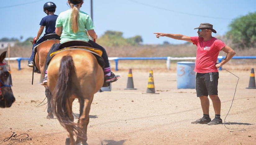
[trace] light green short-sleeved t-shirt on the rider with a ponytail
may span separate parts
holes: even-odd
[[[72,30],[72,10],[69,9],[67,11],[61,12],[56,20],[55,27],[62,26],[62,34],[60,43],[64,43],[72,40],[82,40],[89,41],[89,37],[87,35],[86,30],[93,30],[94,24],[91,17],[83,11],[79,11],[79,19],[78,19],[78,31],[76,33]]]

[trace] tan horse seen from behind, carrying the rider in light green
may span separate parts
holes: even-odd
[[[103,86],[102,67],[92,53],[73,49],[57,53],[48,65],[48,87],[53,93],[51,104],[69,138],[66,144],[87,144],[87,125],[94,94]],[[80,115],[74,123],[72,103],[78,98]],[[74,139],[76,137],[76,141]]]

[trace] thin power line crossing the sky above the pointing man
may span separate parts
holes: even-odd
[[[185,14],[185,15],[193,15],[193,16],[204,17],[204,18],[232,20],[232,19],[221,18],[221,17],[209,17],[209,16],[205,16],[205,15],[195,15],[195,14],[190,14],[190,13],[184,13],[184,12],[181,12],[181,11],[173,11],[173,10],[166,9],[166,8],[161,8],[161,7],[158,7],[158,6],[148,5],[148,4],[145,4],[145,3],[142,3],[142,2],[136,2],[136,1],[134,1],[134,0],[128,0],[128,1],[130,1],[130,2],[135,2],[135,3],[139,3],[139,4],[141,4],[141,5],[153,7],[153,8],[156,8],[156,9],[161,9],[161,10],[165,10],[165,11],[171,11],[171,12],[174,12],[174,13],[180,13],[180,14]]]

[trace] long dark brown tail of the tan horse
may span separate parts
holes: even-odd
[[[53,104],[54,113],[60,124],[68,131],[75,132],[76,135],[82,132],[73,122],[72,106],[70,106],[70,96],[78,94],[78,100],[81,101],[80,88],[72,82],[72,75],[75,74],[75,65],[72,56],[64,56],[61,59],[59,68],[59,77],[53,91],[51,103]],[[72,115],[72,116],[70,116]]]

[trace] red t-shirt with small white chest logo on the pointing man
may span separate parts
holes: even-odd
[[[203,41],[203,38],[198,36],[190,37],[190,39],[197,46],[194,71],[197,73],[218,72],[215,63],[219,52],[226,44],[215,37],[209,41]]]

